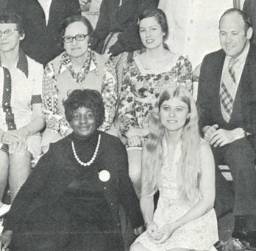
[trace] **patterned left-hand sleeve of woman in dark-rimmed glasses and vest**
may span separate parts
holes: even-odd
[[[62,135],[69,129],[68,122],[58,109],[56,76],[51,62],[46,65],[43,74],[43,116],[46,119],[47,128]]]

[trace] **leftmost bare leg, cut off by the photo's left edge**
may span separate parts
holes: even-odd
[[[4,189],[7,184],[7,178],[8,178],[8,168],[9,168],[9,159],[7,153],[4,153],[4,151],[0,150],[0,207],[3,205],[1,202],[3,195],[4,195]]]

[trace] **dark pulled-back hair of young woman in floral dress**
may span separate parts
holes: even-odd
[[[139,16],[139,23],[144,18],[155,18],[157,23],[161,26],[162,32],[165,34],[163,35],[163,41],[165,42],[167,40],[169,29],[168,29],[168,23],[165,12],[160,9],[147,9],[144,10],[143,13]]]

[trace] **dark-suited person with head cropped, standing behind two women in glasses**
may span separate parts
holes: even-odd
[[[81,14],[78,0],[8,0],[7,10],[22,18],[26,36],[21,46],[25,54],[43,66],[63,51],[58,46],[60,22]]]

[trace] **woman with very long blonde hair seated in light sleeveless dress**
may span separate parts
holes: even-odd
[[[196,104],[188,90],[174,87],[160,95],[149,130],[141,194],[146,232],[130,250],[215,250],[213,153],[199,136]],[[160,198],[154,211],[157,189]]]

